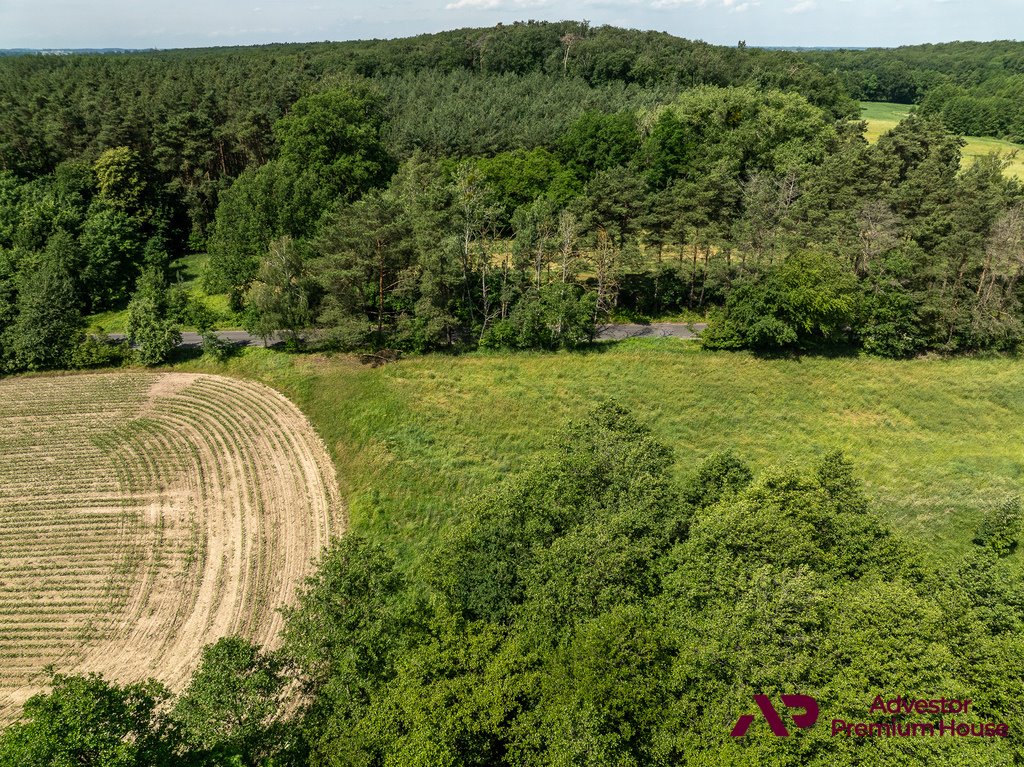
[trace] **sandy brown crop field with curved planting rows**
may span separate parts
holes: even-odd
[[[272,645],[341,531],[328,453],[257,382],[139,371],[0,381],[0,720],[47,667],[187,680]]]

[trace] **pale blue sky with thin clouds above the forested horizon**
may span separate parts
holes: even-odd
[[[0,0],[0,48],[181,48],[588,19],[711,43],[892,46],[1024,38],[1020,0]]]

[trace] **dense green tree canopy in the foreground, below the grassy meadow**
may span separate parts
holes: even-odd
[[[1024,754],[1016,502],[950,566],[880,521],[838,454],[755,476],[673,457],[613,406],[471,503],[412,581],[349,532],[282,649],[224,639],[177,696],[55,677],[0,765],[1001,765]],[[754,694],[812,695],[788,738]],[[970,697],[1009,737],[833,737],[876,695]],[[912,714],[901,723],[940,716]],[[948,715],[944,717],[949,719]]]

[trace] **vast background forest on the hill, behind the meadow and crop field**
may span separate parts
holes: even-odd
[[[659,317],[766,353],[1013,350],[1020,188],[995,158],[962,168],[963,127],[935,104],[981,98],[1017,48],[969,46],[952,71],[956,45],[793,53],[526,23],[7,56],[0,359],[153,364],[183,327],[216,350],[218,326],[319,349],[575,348]],[[865,90],[877,59],[938,74]],[[868,144],[864,97],[921,106]],[[91,328],[125,310],[134,351]]]

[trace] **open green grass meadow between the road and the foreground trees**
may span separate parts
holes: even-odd
[[[377,369],[265,350],[183,367],[197,366],[291,396],[333,453],[353,524],[403,547],[414,567],[466,498],[603,398],[671,444],[680,475],[726,448],[758,469],[842,449],[876,508],[943,558],[1024,479],[1024,368],[1014,359],[760,359],[649,339]]]

